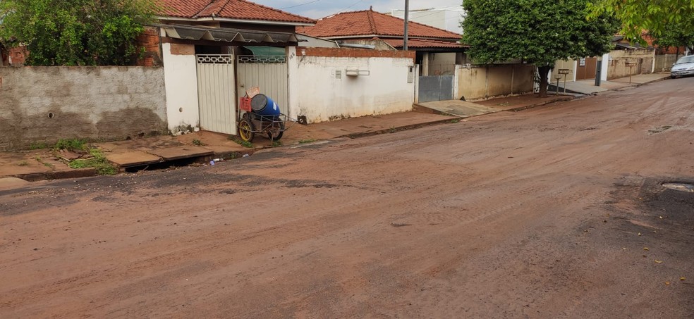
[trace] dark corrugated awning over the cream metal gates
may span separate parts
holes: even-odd
[[[296,35],[286,32],[264,32],[232,29],[229,27],[196,27],[192,25],[156,25],[162,27],[166,37],[186,40],[208,40],[218,42],[276,43],[299,42]]]

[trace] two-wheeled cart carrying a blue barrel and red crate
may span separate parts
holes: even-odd
[[[245,142],[252,142],[256,134],[276,141],[282,138],[287,128],[287,115],[282,114],[279,106],[264,94],[242,97],[238,113],[238,136]]]

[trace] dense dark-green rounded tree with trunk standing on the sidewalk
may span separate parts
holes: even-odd
[[[602,15],[588,22],[588,0],[463,0],[463,43],[475,63],[522,58],[540,73],[547,96],[548,73],[557,60],[607,53],[617,30]]]

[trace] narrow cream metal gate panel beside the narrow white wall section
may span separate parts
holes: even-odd
[[[231,54],[197,55],[200,129],[236,135],[236,90]]]

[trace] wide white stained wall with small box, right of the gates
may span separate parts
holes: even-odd
[[[317,123],[410,111],[415,83],[407,78],[413,65],[411,58],[293,56],[289,52],[290,113]],[[348,68],[358,68],[361,75],[347,76]]]

